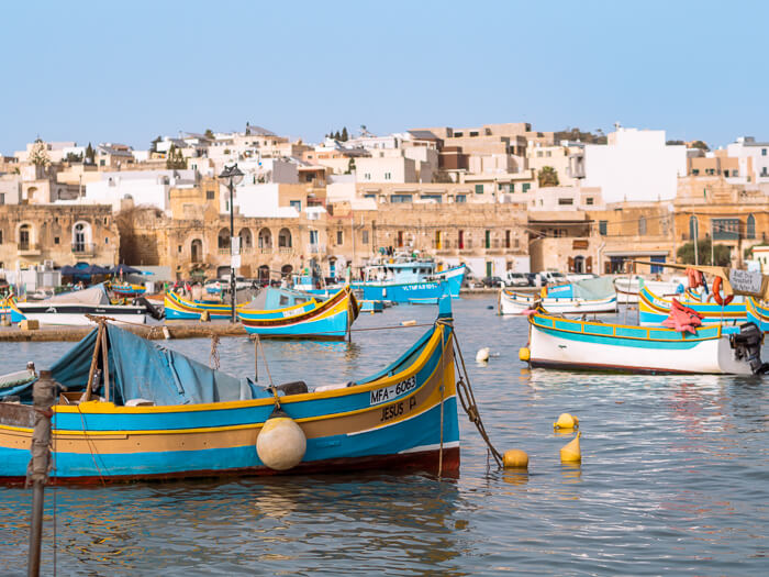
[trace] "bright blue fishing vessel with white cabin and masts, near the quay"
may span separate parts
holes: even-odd
[[[427,299],[435,303],[443,295],[442,282],[448,286],[452,297],[458,298],[466,273],[466,265],[437,270],[434,260],[400,256],[368,265],[366,279],[353,282],[353,288],[363,290],[364,300],[409,303]]]

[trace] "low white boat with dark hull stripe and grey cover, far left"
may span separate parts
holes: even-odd
[[[145,303],[114,304],[103,284],[57,295],[38,301],[18,302],[7,300],[11,321],[37,321],[41,324],[87,325],[93,324],[89,315],[110,317],[116,322],[145,323],[149,312]]]

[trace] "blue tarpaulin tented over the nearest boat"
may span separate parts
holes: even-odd
[[[54,380],[68,390],[85,390],[97,333],[98,329],[91,331],[51,367]],[[111,397],[116,404],[131,399],[168,406],[270,397],[250,379],[214,370],[113,324],[107,325],[107,335]],[[24,389],[15,389],[13,395],[25,400],[32,384]]]

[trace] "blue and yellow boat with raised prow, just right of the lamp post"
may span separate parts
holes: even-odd
[[[343,340],[349,334],[360,307],[353,290],[345,287],[331,298],[314,298],[285,308],[272,308],[258,300],[237,310],[249,334],[282,339]]]

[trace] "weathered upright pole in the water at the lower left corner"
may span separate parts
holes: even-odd
[[[35,409],[35,425],[32,433],[32,461],[30,475],[26,478],[29,487],[32,484],[32,519],[30,521],[30,553],[26,575],[40,575],[40,550],[43,535],[43,489],[48,481],[48,446],[51,445],[51,407],[54,404],[54,388],[56,384],[51,378],[49,370],[41,370],[40,379],[32,390]]]

